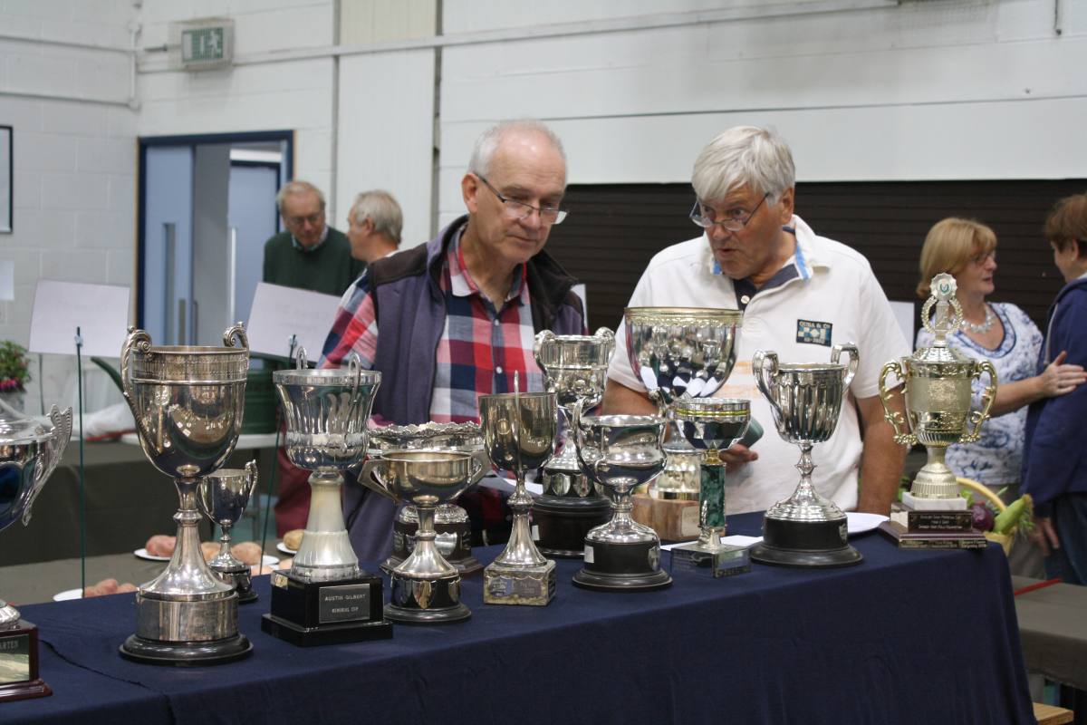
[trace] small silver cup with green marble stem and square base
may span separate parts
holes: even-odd
[[[698,541],[672,549],[677,565],[707,567],[714,577],[751,571],[747,547],[722,543],[725,535],[725,464],[720,452],[747,433],[751,401],[735,398],[687,398],[673,403],[670,416],[696,449],[704,451],[698,490]]]

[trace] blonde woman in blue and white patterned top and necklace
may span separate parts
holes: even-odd
[[[997,235],[988,226],[972,220],[949,217],[937,222],[925,237],[921,250],[921,282],[917,295],[927,298],[929,280],[940,272],[954,276],[957,297],[965,321],[948,338],[948,345],[977,360],[989,360],[997,370],[999,386],[992,403],[992,418],[982,426],[976,443],[951,446],[947,464],[959,476],[973,478],[989,488],[1007,488],[1004,499],[1019,498],[1023,464],[1026,407],[1063,396],[1087,382],[1080,365],[1066,365],[1061,351],[1040,374],[1035,374],[1041,333],[1023,310],[1010,302],[989,302],[995,290]],[[930,333],[917,333],[916,347],[933,343]],[[979,404],[980,382],[974,385],[974,405]],[[1033,547],[1016,547],[1028,550]],[[1026,554],[1022,551],[1020,557]],[[1030,551],[1026,562],[1015,561],[1013,573],[1040,574],[1041,560]],[[1016,571],[1019,570],[1019,571]]]

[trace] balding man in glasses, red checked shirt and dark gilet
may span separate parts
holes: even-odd
[[[566,216],[565,188],[565,154],[547,126],[511,121],[484,132],[461,179],[467,214],[425,246],[371,265],[343,295],[321,364],[359,353],[382,373],[375,418],[398,425],[478,421],[478,397],[512,392],[515,374],[521,390],[542,390],[536,333],[585,332],[574,278],[544,251]],[[459,503],[474,534],[491,542],[509,535],[495,491]],[[359,557],[386,557],[393,505],[348,486],[343,507]]]

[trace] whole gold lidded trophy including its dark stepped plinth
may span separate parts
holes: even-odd
[[[977,361],[948,347],[947,338],[962,324],[962,307],[955,299],[954,277],[941,273],[933,277],[933,295],[921,310],[921,322],[936,341],[911,357],[894,360],[879,373],[879,399],[887,422],[895,427],[895,442],[921,443],[928,461],[917,472],[902,503],[891,508],[891,521],[882,529],[900,547],[984,548],[985,537],[974,530],[966,500],[959,495],[954,472],[944,462],[948,446],[972,443],[997,396],[997,371],[988,360]],[[935,311],[934,309],[935,308]],[[909,417],[891,411],[887,389],[890,373],[904,380]],[[982,391],[982,410],[971,410],[971,383],[988,374]]]

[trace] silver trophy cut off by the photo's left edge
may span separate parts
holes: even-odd
[[[0,530],[22,520],[72,437],[72,409],[49,411],[48,427],[0,403]],[[38,675],[38,628],[0,599],[0,702],[51,695]]]

